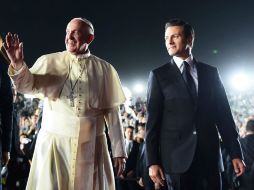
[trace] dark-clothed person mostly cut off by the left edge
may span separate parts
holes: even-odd
[[[1,36],[0,36],[1,40]],[[0,46],[1,48],[1,46]],[[10,159],[11,131],[12,131],[12,90],[10,78],[7,75],[7,60],[0,52],[0,171],[2,165],[6,165]],[[0,175],[1,179],[1,175]],[[2,186],[0,185],[0,190]]]

